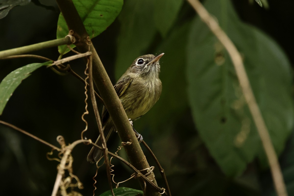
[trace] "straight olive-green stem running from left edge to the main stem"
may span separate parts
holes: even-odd
[[[23,46],[19,48],[4,50],[4,51],[0,51],[0,59],[6,56],[30,53],[30,52],[38,51],[44,48],[51,48],[51,47],[66,45],[66,44],[71,44],[71,39],[69,37],[54,39],[54,40],[45,41],[41,43],[35,43],[29,46]]]

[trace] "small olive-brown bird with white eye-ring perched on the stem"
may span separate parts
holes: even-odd
[[[161,80],[159,79],[159,59],[163,54],[139,56],[114,85],[129,120],[134,121],[140,118],[159,99],[162,90]],[[105,106],[102,109],[101,123],[103,125],[103,134],[107,135],[107,141],[111,133],[116,130]],[[95,144],[101,146],[100,135]],[[93,146],[87,160],[95,163],[101,158],[102,154],[102,150]]]

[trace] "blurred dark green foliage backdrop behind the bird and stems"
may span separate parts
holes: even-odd
[[[41,3],[54,6],[56,11],[30,3],[14,7],[0,20],[0,50],[56,38],[58,7],[53,0]],[[294,195],[290,68],[294,51],[289,39],[294,33],[289,27],[294,2],[268,0],[267,10],[248,0],[203,3],[243,55],[276,151],[282,153],[280,163],[288,194]],[[161,58],[161,98],[133,124],[165,169],[173,195],[275,195],[230,58],[186,1],[126,0],[117,19],[93,39],[93,44],[113,83],[138,56],[165,53]],[[59,56],[57,48],[34,54],[51,59]],[[1,60],[0,78],[37,62],[28,58]],[[85,77],[82,60],[70,64]],[[54,145],[58,145],[58,135],[72,143],[85,126],[81,120],[84,98],[83,83],[41,67],[16,89],[0,119]],[[85,135],[95,140],[98,131],[91,107],[89,110]],[[245,137],[236,145],[244,127]],[[46,159],[50,149],[2,125],[0,135],[0,174],[5,182],[0,194],[51,194],[58,162]],[[111,138],[110,150],[115,151],[118,140],[117,136]],[[85,187],[79,190],[83,195],[93,191],[96,167],[86,162],[90,148],[80,144],[72,153],[74,174]],[[125,156],[123,151],[120,154]],[[155,165],[150,155],[146,156],[150,165]],[[115,168],[117,182],[133,173],[119,162]],[[109,190],[104,170],[98,170],[96,195]],[[155,175],[163,187],[159,172]],[[122,186],[140,189],[136,180]]]

